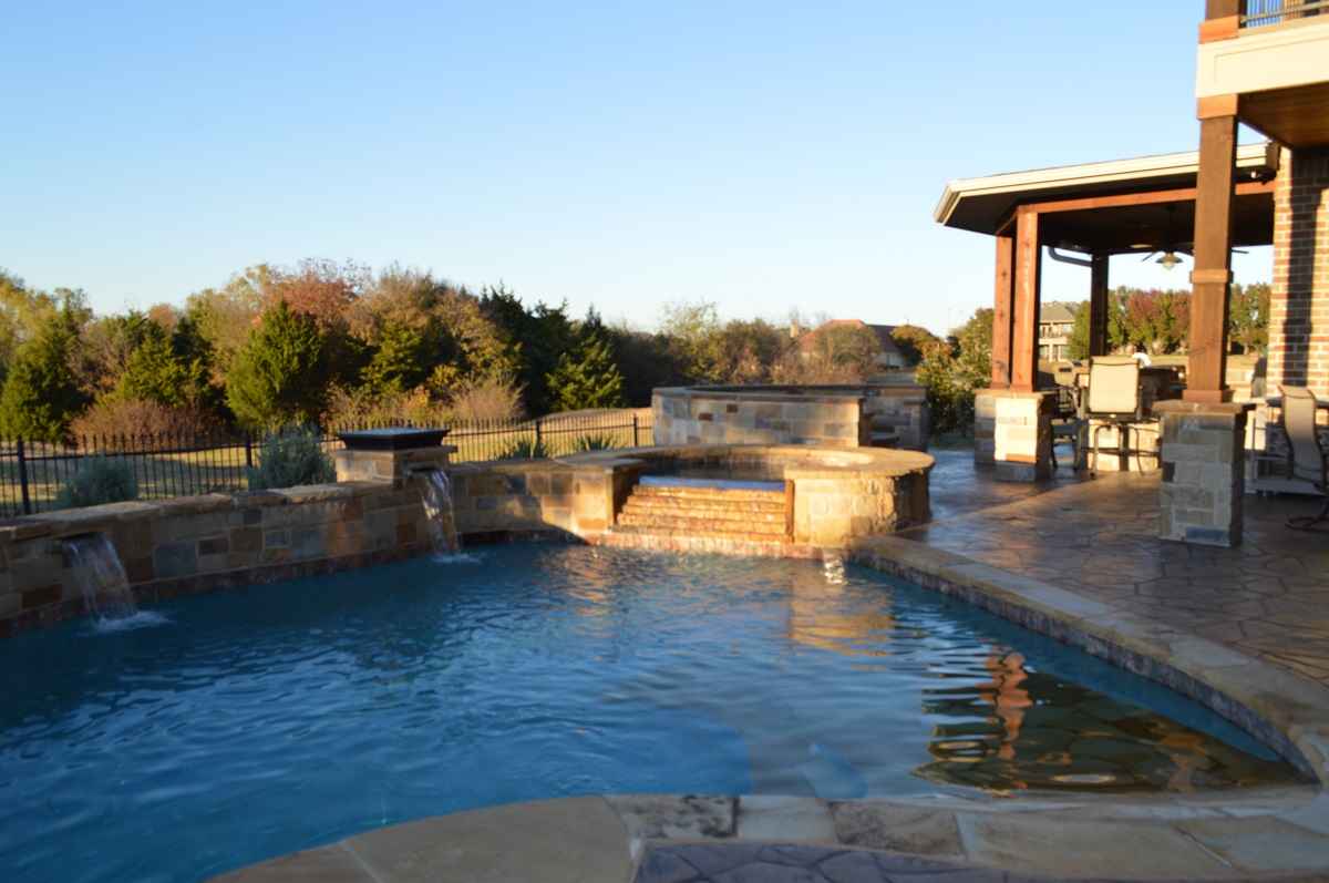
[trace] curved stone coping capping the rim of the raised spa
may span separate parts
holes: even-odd
[[[769,460],[784,464],[787,479],[833,479],[845,473],[898,477],[932,469],[936,460],[901,448],[833,448],[805,444],[672,444],[574,453],[557,461],[570,467],[635,468],[653,461]]]

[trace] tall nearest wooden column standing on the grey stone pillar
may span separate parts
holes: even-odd
[[[1191,364],[1184,398],[1227,402],[1228,298],[1232,285],[1236,96],[1201,101],[1200,172],[1195,193],[1195,270],[1191,273]],[[1212,110],[1229,110],[1211,116]]]

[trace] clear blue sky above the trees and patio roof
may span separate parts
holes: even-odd
[[[326,257],[942,331],[991,297],[949,178],[1197,142],[1201,0],[209,5],[7,8],[0,266],[100,311]]]

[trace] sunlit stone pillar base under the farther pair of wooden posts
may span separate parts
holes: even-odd
[[[974,463],[995,465],[998,481],[1050,477],[1054,395],[979,390],[974,396]]]

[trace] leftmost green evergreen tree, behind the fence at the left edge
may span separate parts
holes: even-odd
[[[0,394],[0,430],[11,438],[58,442],[88,404],[70,367],[78,320],[66,305],[19,347]]]

